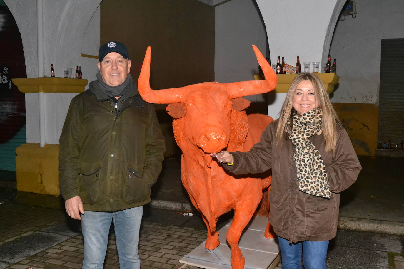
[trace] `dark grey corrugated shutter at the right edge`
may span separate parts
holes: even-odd
[[[379,134],[391,147],[404,140],[404,39],[381,40]]]

